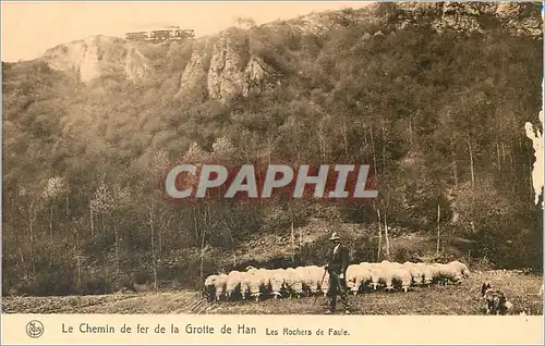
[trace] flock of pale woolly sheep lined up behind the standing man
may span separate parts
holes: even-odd
[[[468,267],[459,261],[448,264],[412,263],[382,261],[380,263],[362,262],[351,264],[347,269],[347,287],[352,294],[365,289],[387,291],[411,289],[412,286],[429,286],[431,284],[461,283],[469,276]],[[274,299],[288,296],[302,297],[327,295],[329,274],[324,267],[308,265],[288,269],[246,268],[245,272],[231,271],[229,274],[210,275],[205,281],[205,292],[209,301],[255,299],[264,297]]]

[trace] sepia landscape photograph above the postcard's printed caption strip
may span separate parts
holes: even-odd
[[[541,2],[1,5],[2,314],[543,316]]]

